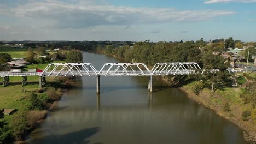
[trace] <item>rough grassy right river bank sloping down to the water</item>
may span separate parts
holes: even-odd
[[[252,103],[245,104],[241,97],[245,92],[243,87],[228,87],[223,90],[217,90],[211,93],[210,89],[202,89],[198,95],[193,91],[196,83],[193,82],[183,86],[181,89],[188,93],[188,97],[197,101],[197,103],[216,111],[229,121],[235,123],[245,131],[245,139],[249,142],[256,142],[256,109],[253,109]],[[250,115],[245,115],[245,113]]]

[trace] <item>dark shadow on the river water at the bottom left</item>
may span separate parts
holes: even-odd
[[[34,139],[31,143],[89,143],[89,137],[95,135],[100,129],[98,127],[86,128],[64,135],[50,135],[42,139]],[[98,143],[98,142],[97,142]]]

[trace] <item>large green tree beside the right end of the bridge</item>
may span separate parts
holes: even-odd
[[[203,83],[211,89],[212,93],[231,84],[231,75],[226,70],[228,64],[225,63],[225,59],[208,52],[203,55],[202,61],[203,69],[205,70],[203,73]]]

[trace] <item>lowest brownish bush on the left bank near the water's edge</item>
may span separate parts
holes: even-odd
[[[46,117],[47,111],[28,111],[27,112],[27,123],[30,125],[30,128],[35,128],[38,124],[38,121],[44,119]]]

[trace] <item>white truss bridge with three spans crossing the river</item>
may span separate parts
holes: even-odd
[[[53,63],[43,72],[0,72],[5,76],[151,76],[151,75],[189,75],[201,71],[197,63],[156,63],[149,70],[144,63],[106,63],[96,70],[90,63]]]

